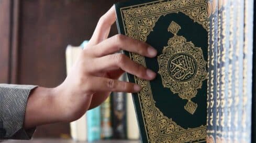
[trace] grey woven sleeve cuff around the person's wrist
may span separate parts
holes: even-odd
[[[0,84],[0,121],[7,139],[30,139],[36,128],[23,128],[27,100],[34,85]]]

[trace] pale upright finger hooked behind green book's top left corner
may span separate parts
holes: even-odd
[[[108,37],[111,25],[116,21],[115,6],[113,5],[98,21],[90,44],[96,45]]]

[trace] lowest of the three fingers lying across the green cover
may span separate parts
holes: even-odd
[[[92,77],[90,79],[91,84],[89,89],[91,92],[126,92],[126,93],[137,93],[141,90],[141,86],[123,82],[113,79],[107,79],[105,77]]]

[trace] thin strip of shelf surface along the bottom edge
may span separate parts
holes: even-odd
[[[31,140],[4,140],[1,143],[86,143],[86,141],[74,141],[72,139],[31,139]],[[140,143],[139,140],[100,140],[95,143]]]

